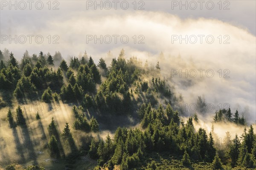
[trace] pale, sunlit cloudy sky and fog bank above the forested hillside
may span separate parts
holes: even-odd
[[[96,63],[100,57],[109,63],[107,52],[117,57],[124,48],[127,58],[137,56],[153,65],[159,61],[162,75],[188,105],[201,95],[215,106],[210,115],[218,104],[229,104],[233,113],[238,109],[255,122],[255,0],[0,4],[0,49],[18,59],[25,50],[30,55],[60,51],[67,60],[86,50]],[[185,74],[180,77],[180,72]]]

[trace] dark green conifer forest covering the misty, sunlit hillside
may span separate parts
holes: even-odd
[[[4,128],[13,136],[21,132],[30,137],[33,127],[44,129],[41,138],[47,142],[40,150],[51,164],[38,161],[40,155],[33,146],[15,146],[15,154],[20,154],[16,160],[11,155],[3,156],[9,146],[2,145],[1,138],[0,167],[6,170],[256,168],[255,126],[247,124],[238,110],[227,108],[210,115],[210,132],[200,127],[200,115],[206,111],[186,117],[174,107],[183,99],[169,85],[170,80],[161,75],[159,62],[150,66],[148,61],[128,58],[124,49],[109,66],[105,59],[95,62],[86,52],[81,58],[68,60],[62,58],[61,52],[30,56],[26,51],[20,61],[17,56],[8,49],[0,51],[0,107],[4,110],[1,137],[5,137]],[[55,104],[68,106],[72,119],[58,121],[55,112],[44,121],[44,112],[28,116],[22,106],[33,101],[51,108]],[[200,96],[197,101],[204,104]],[[132,121],[134,126],[130,126]],[[244,131],[238,135],[224,129],[226,136],[220,142],[214,130],[220,122]],[[102,135],[104,130],[113,134]],[[25,156],[26,152],[29,156]]]

